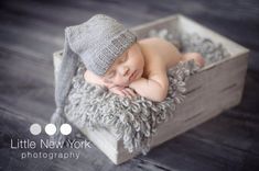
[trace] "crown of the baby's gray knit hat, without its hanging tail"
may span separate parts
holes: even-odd
[[[66,29],[72,50],[86,68],[104,76],[115,59],[129,48],[137,37],[115,19],[97,14],[87,22]]]

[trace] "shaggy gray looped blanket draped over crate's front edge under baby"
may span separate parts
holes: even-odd
[[[128,151],[142,151],[143,155],[150,149],[158,125],[172,116],[176,105],[183,102],[186,80],[198,69],[194,60],[170,69],[169,94],[159,103],[141,96],[122,98],[104,87],[87,83],[83,77],[85,67],[82,62],[78,65],[65,106],[67,118],[79,128],[115,127],[117,138],[122,138]]]

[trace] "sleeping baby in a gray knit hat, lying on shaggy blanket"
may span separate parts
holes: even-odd
[[[161,102],[168,95],[170,67],[191,59],[204,66],[198,53],[181,54],[173,44],[158,37],[137,41],[133,33],[110,16],[97,14],[87,24],[98,33],[94,38],[101,50],[94,50],[96,54],[85,60],[84,78],[118,95],[141,95]]]

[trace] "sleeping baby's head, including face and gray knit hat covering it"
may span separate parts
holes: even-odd
[[[87,70],[116,86],[128,86],[142,76],[144,60],[133,33],[104,14],[93,16],[85,24],[88,48],[80,57]]]

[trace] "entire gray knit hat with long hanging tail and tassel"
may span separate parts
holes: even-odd
[[[115,59],[136,41],[134,34],[115,19],[104,14],[94,15],[83,24],[65,29],[63,59],[55,84],[56,110],[51,118],[51,123],[57,127],[57,132],[51,136],[53,142],[63,144],[65,140],[60,127],[66,121],[64,106],[78,59],[82,58],[87,69],[102,76]]]

